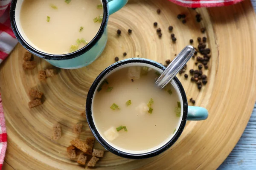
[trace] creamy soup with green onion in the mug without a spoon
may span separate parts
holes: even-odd
[[[23,0],[26,41],[48,54],[67,54],[93,40],[102,21],[101,0]]]

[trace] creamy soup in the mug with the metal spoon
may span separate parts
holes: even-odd
[[[113,147],[133,153],[168,142],[180,125],[180,97],[170,83],[154,85],[159,72],[141,66],[108,74],[93,96],[93,121]]]

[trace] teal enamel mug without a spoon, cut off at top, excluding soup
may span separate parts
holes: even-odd
[[[10,19],[12,30],[17,40],[30,51],[32,54],[45,59],[51,65],[64,69],[75,69],[89,65],[96,60],[104,50],[108,40],[108,17],[121,9],[128,0],[101,0],[103,8],[103,18],[99,31],[87,45],[83,48],[68,54],[47,54],[35,49],[24,38],[22,28],[20,26],[20,9],[23,0],[13,0],[11,3]]]

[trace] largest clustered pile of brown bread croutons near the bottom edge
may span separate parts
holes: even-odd
[[[94,141],[95,138],[93,137],[87,138],[85,142],[78,138],[70,141],[71,146],[67,147],[68,157],[70,159],[75,159],[77,155],[76,153],[82,151],[82,153],[80,153],[78,156],[77,162],[79,164],[85,165],[87,158],[92,156],[88,161],[87,166],[94,167],[97,161],[99,161],[99,158],[104,156],[103,150],[93,148]]]

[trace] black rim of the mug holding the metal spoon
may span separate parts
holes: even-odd
[[[177,130],[177,133],[175,136],[172,137],[172,139],[169,140],[166,144],[164,144],[162,147],[157,148],[156,150],[150,151],[148,153],[125,153],[121,150],[118,150],[114,147],[112,147],[108,142],[106,142],[102,136],[99,134],[98,130],[96,129],[96,126],[93,122],[93,116],[92,116],[92,102],[93,102],[93,95],[94,92],[96,91],[97,86],[99,85],[99,82],[111,71],[114,69],[118,68],[119,66],[129,64],[129,63],[145,63],[152,65],[154,67],[160,68],[161,70],[165,70],[166,68],[161,65],[158,62],[154,62],[153,60],[150,59],[143,59],[143,58],[130,58],[130,59],[125,59],[119,62],[114,63],[113,65],[110,65],[108,68],[106,68],[104,71],[102,71],[101,74],[94,80],[93,84],[90,87],[90,90],[88,91],[87,94],[87,99],[86,99],[86,118],[88,125],[90,127],[90,130],[92,131],[93,135],[95,136],[96,140],[102,144],[103,147],[105,147],[107,150],[109,150],[111,153],[114,153],[117,156],[121,156],[124,158],[128,159],[145,159],[145,158],[150,158],[153,156],[157,156],[163,151],[167,150],[169,147],[171,147],[177,139],[180,137],[185,125],[186,125],[186,120],[187,120],[187,113],[188,113],[188,104],[187,104],[187,99],[186,99],[186,93],[184,91],[183,86],[181,85],[181,82],[177,79],[177,77],[174,77],[174,81],[177,84],[182,100],[183,100],[183,116],[182,120],[180,123],[180,126]]]

